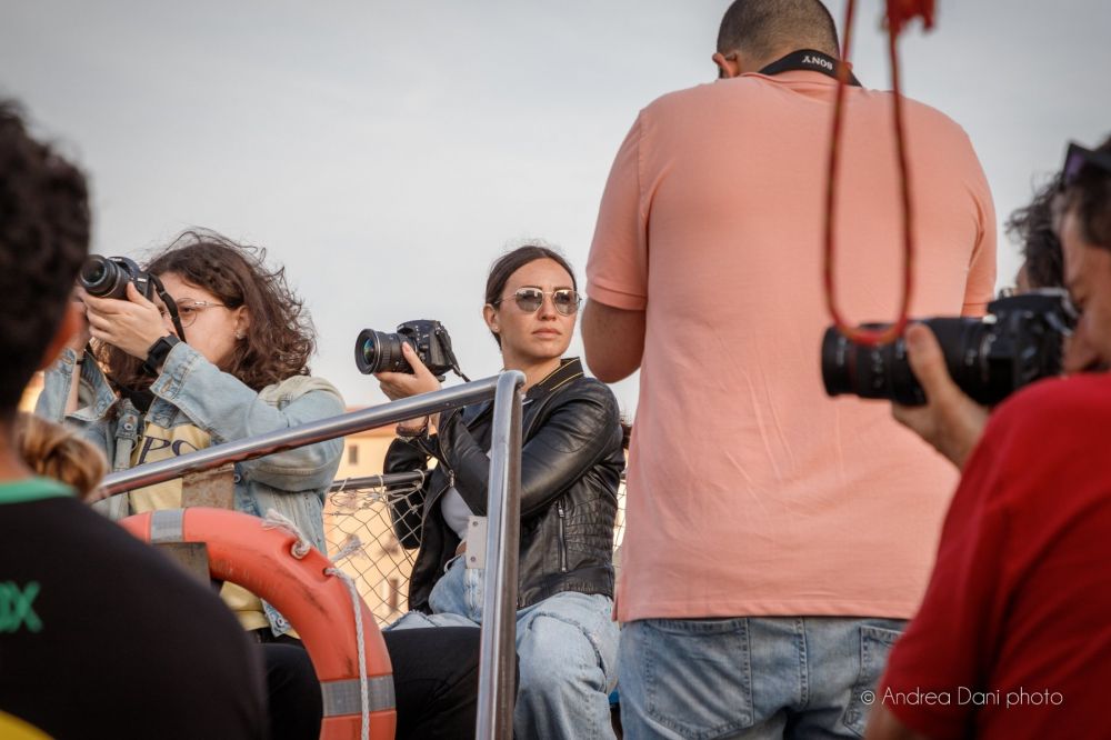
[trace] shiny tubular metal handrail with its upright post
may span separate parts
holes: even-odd
[[[152,462],[104,478],[109,496],[493,398],[477,738],[512,738],[524,373],[492,378]]]

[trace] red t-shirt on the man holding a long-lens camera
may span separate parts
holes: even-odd
[[[931,738],[1111,737],[1111,376],[1005,402],[878,698]]]

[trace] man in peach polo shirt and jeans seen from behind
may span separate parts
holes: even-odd
[[[641,111],[587,267],[587,361],[638,368],[618,586],[627,736],[859,737],[918,607],[955,476],[885,403],[822,390],[837,31],[818,0],[738,0],[720,79]],[[892,96],[847,91],[838,299],[893,320]],[[965,133],[907,101],[912,314],[991,298],[991,196]]]

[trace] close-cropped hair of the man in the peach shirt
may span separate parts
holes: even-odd
[[[768,59],[784,47],[839,57],[837,24],[829,9],[819,0],[734,0],[721,19],[721,53],[741,50]]]

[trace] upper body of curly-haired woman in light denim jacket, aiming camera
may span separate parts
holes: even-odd
[[[157,254],[147,271],[177,303],[184,337],[164,303],[133,284],[127,300],[83,296],[88,332],[47,371],[36,412],[80,428],[113,471],[343,413],[339,391],[309,374],[311,322],[284,269],[268,269],[264,257],[202,231]],[[177,343],[151,372],[160,341]],[[342,450],[336,439],[236,463],[236,509],[274,509],[326,552],[323,494]],[[180,501],[180,481],[169,481],[97,506],[119,519]],[[289,631],[270,604],[236,589],[224,598],[244,628],[264,640]]]

